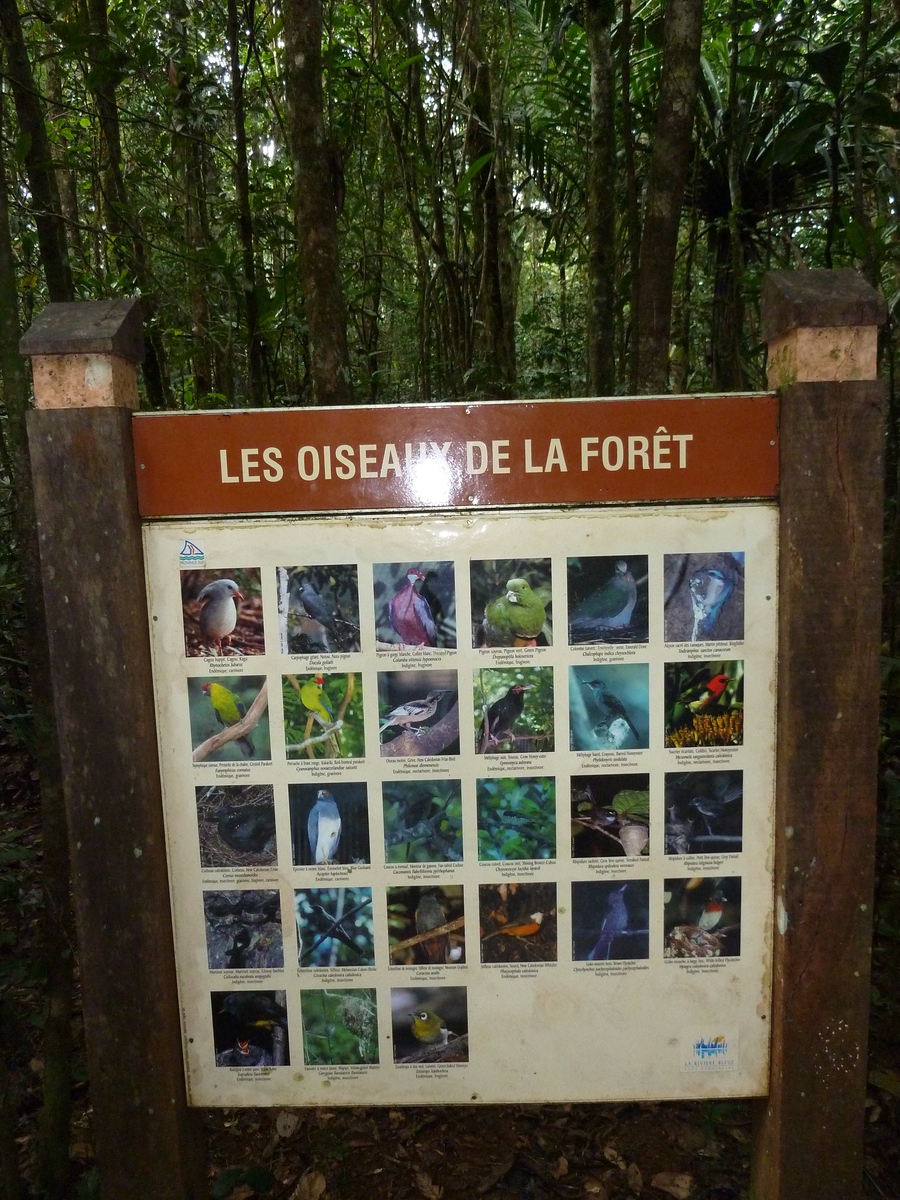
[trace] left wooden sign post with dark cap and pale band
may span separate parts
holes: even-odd
[[[20,348],[103,1200],[194,1200],[131,433],[139,301],[48,305]]]

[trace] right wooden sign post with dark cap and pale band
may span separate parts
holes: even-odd
[[[854,271],[763,283],[781,390],[772,1081],[755,1200],[863,1187],[878,745],[883,300]]]

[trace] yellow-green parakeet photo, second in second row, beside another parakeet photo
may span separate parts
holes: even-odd
[[[365,757],[361,674],[286,674],[281,696],[288,758]]]

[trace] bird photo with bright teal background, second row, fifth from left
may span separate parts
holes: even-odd
[[[646,662],[569,667],[569,749],[646,750],[649,704]]]

